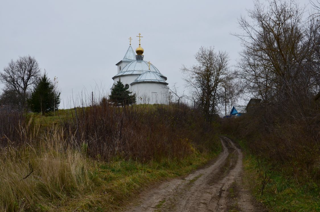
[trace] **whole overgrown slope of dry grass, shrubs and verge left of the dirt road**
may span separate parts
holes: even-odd
[[[105,102],[58,113],[1,109],[0,210],[120,209],[221,149],[212,124],[186,105]]]

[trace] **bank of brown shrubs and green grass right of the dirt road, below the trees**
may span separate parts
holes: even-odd
[[[244,150],[246,181],[271,211],[317,211],[319,119],[314,124],[310,120],[290,123],[284,117],[280,121],[267,108],[260,106],[253,113],[224,120],[221,126]],[[319,117],[319,111],[314,112]]]

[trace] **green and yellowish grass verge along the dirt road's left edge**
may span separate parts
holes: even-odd
[[[195,153],[181,161],[150,161],[146,164],[121,159],[115,159],[109,163],[101,162],[90,176],[95,187],[92,187],[89,192],[78,193],[75,197],[69,198],[55,210],[68,211],[75,208],[80,211],[95,211],[99,208],[103,211],[121,210],[126,201],[134,198],[147,186],[184,176],[217,155],[218,152]],[[197,176],[199,177],[201,176]]]

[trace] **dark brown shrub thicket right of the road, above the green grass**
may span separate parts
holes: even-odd
[[[287,108],[259,106],[239,118],[224,120],[222,130],[244,142],[265,174],[276,172],[299,185],[319,187],[320,111],[316,104],[298,109],[292,103]]]

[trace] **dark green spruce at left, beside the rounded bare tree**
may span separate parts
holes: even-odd
[[[54,84],[44,73],[28,100],[30,109],[41,113],[57,110],[60,105],[60,94],[61,92],[54,89]]]

